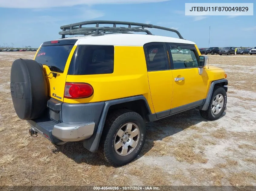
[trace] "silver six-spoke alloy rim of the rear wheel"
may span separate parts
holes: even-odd
[[[140,139],[140,130],[135,123],[126,123],[115,135],[114,148],[117,154],[125,156],[130,154]]]

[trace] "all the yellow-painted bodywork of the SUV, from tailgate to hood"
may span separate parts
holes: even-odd
[[[196,45],[195,48],[201,55]],[[211,82],[223,79],[225,75],[224,70],[213,66],[203,68],[201,75],[198,68],[148,72],[142,46],[115,46],[112,74],[67,75],[75,49],[76,46],[68,56],[64,72],[56,72],[56,78],[48,66],[43,65],[48,95],[65,103],[91,103],[143,95],[151,113],[158,113],[206,98]],[[38,51],[35,57],[37,54]],[[175,77],[184,77],[185,80],[175,82]],[[88,98],[64,98],[65,82],[91,84],[94,94]]]

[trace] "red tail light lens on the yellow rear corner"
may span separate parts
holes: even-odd
[[[93,94],[93,88],[86,83],[66,83],[65,84],[65,98],[85,98]]]

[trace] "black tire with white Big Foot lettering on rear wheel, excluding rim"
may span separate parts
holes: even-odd
[[[114,143],[118,130],[126,123],[134,123],[139,129],[139,140],[130,154],[121,156],[115,151]],[[141,151],[146,137],[146,128],[143,118],[136,112],[122,109],[107,116],[103,129],[99,154],[112,166],[122,166],[133,161]],[[131,147],[130,147],[131,149]]]

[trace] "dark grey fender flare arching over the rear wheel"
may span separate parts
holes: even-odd
[[[117,105],[119,103],[125,103],[135,100],[143,100],[145,102],[146,108],[148,109],[149,114],[151,114],[150,107],[148,105],[147,99],[143,95],[133,96],[133,97],[126,97],[116,100],[109,100],[105,102],[105,106],[103,108],[101,118],[97,127],[97,131],[88,139],[83,140],[83,146],[87,148],[91,152],[96,152],[98,150],[98,146],[100,143],[103,127],[105,124],[105,120],[108,114],[108,109],[112,105]]]

